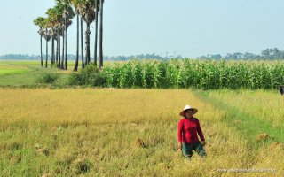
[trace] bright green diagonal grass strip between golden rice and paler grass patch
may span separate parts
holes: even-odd
[[[202,101],[212,104],[217,109],[224,110],[223,121],[241,131],[244,138],[248,139],[249,146],[258,148],[260,145],[271,144],[271,142],[284,142],[283,127],[272,127],[269,121],[257,119],[247,112],[235,108],[232,104],[225,104],[221,100],[209,96],[209,91],[193,90],[193,93]],[[262,139],[261,135],[265,134],[269,137]]]

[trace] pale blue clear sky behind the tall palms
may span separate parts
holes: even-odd
[[[45,17],[54,5],[53,0],[1,3],[0,55],[39,55],[40,36],[33,20]],[[260,54],[273,47],[284,50],[283,7],[283,0],[105,0],[104,55],[196,58],[233,52]],[[92,24],[91,54],[93,30]],[[67,53],[75,54],[75,49],[74,18],[67,30]]]

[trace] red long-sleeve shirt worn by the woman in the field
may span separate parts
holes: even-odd
[[[178,142],[196,143],[198,142],[198,135],[201,141],[204,142],[204,136],[199,124],[199,120],[193,119],[180,119],[177,126],[177,140]]]

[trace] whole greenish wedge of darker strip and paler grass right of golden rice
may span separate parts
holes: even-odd
[[[216,108],[226,110],[223,121],[244,133],[249,145],[258,147],[259,142],[266,145],[275,141],[284,142],[283,120],[278,119],[284,117],[284,112],[278,104],[272,104],[280,98],[279,93],[267,90],[195,90],[194,93]],[[263,102],[268,97],[270,104]],[[264,138],[265,141],[256,141],[259,135],[264,134],[268,135]]]

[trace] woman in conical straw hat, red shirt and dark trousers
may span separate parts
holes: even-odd
[[[182,151],[185,158],[191,158],[193,156],[193,150],[200,156],[206,156],[206,152],[203,148],[205,139],[202,134],[201,126],[199,120],[193,117],[196,112],[198,112],[196,108],[185,105],[184,110],[179,113],[184,119],[179,120],[177,127],[178,150]],[[201,142],[197,134],[200,136]]]

